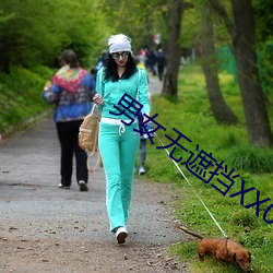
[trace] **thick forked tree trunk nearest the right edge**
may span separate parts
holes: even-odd
[[[249,142],[272,146],[273,135],[258,70],[251,0],[232,0],[234,23],[218,0],[209,1],[232,36]]]

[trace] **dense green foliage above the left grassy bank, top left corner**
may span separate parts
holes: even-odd
[[[72,48],[90,67],[105,47],[104,16],[94,0],[2,0],[0,11],[0,70],[54,66],[64,48]],[[93,58],[93,59],[92,59]]]

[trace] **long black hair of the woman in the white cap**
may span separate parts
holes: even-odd
[[[117,63],[116,61],[112,59],[111,55],[109,55],[108,61],[106,63],[106,69],[105,69],[105,80],[106,81],[112,81],[112,82],[117,82],[119,81],[119,75],[118,75],[118,71],[117,71]],[[122,79],[129,79],[132,74],[134,74],[136,72],[136,64],[132,58],[132,55],[129,54],[128,56],[128,60],[126,63],[126,71],[122,75]]]

